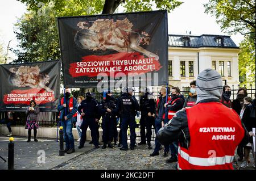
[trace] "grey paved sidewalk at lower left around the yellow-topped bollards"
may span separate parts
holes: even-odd
[[[0,136],[0,155],[6,159],[8,158],[8,143],[9,137]],[[63,157],[59,156],[59,142],[51,138],[38,138],[38,142],[27,142],[27,137],[14,137],[14,169],[17,170],[48,170],[57,167],[61,163],[69,161],[86,151],[93,150],[94,146],[89,145],[86,141],[85,147],[77,149],[78,142],[75,140],[76,152],[66,154]],[[40,163],[43,159],[40,158],[42,152],[45,151],[45,163]],[[38,163],[39,159],[39,163]],[[8,169],[8,163],[0,159],[0,170]]]

